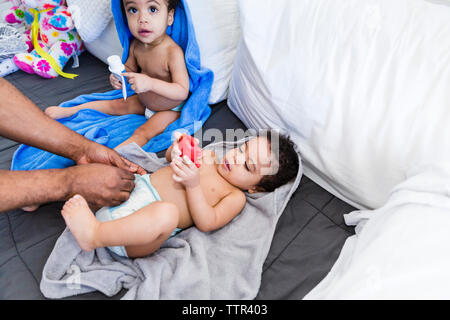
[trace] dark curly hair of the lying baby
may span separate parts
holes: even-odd
[[[256,187],[263,192],[272,192],[297,176],[299,157],[289,136],[275,130],[263,130],[257,136],[267,138],[269,141],[271,152],[278,161],[278,171],[272,175],[265,175]]]

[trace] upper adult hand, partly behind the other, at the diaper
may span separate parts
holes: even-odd
[[[120,156],[115,150],[102,146],[98,143],[89,144],[84,154],[74,160],[77,164],[102,163],[125,169],[131,173],[137,173],[140,175],[147,173],[140,166]]]

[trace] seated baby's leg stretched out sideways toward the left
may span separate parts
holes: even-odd
[[[48,107],[45,109],[45,113],[53,119],[62,119],[70,117],[83,109],[93,109],[114,116],[145,113],[145,107],[141,104],[137,95],[131,96],[127,100],[97,100],[69,108]]]

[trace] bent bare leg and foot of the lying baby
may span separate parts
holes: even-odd
[[[127,217],[100,222],[83,197],[69,199],[61,211],[81,249],[124,246],[130,258],[147,256],[172,234],[178,225],[178,208],[157,201]]]

